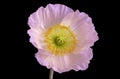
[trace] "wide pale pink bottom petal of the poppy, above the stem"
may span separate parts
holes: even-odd
[[[47,68],[62,73],[70,70],[85,70],[92,58],[91,48],[80,51],[80,53],[66,54],[64,56],[55,56],[50,52],[39,50],[35,57],[37,61]]]

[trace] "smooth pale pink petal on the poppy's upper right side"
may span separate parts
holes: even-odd
[[[91,18],[83,12],[80,13],[77,10],[68,14],[61,24],[71,28],[77,37],[79,47],[92,46],[98,40],[98,35]]]

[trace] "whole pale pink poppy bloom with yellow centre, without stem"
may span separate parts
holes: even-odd
[[[62,73],[85,70],[93,57],[97,32],[91,18],[61,4],[48,4],[30,15],[30,42],[38,49],[37,61]]]

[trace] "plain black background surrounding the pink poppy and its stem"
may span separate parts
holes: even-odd
[[[1,43],[5,49],[1,55],[2,60],[4,60],[2,73],[9,74],[3,79],[6,79],[5,77],[11,79],[48,79],[49,70],[36,61],[34,54],[37,49],[29,42],[27,34],[29,29],[27,21],[30,14],[40,6],[45,7],[48,3],[64,4],[73,10],[78,9],[87,13],[92,18],[99,36],[99,41],[92,47],[94,57],[87,70],[55,73],[54,79],[103,79],[112,76],[106,74],[109,71],[113,73],[112,70],[115,69],[109,68],[111,62],[115,63],[111,61],[113,51],[111,48],[114,46],[112,39],[115,31],[112,27],[112,18],[115,15],[112,16],[112,13],[116,11],[116,8],[111,7],[110,1],[108,3],[101,0],[16,0],[3,2],[4,9],[1,17],[3,17],[4,27],[1,28],[1,34],[4,34],[2,39],[5,42],[1,41]]]

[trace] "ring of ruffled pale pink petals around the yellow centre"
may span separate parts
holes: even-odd
[[[66,26],[74,33],[77,44],[72,53],[57,56],[46,49],[45,32],[57,24]],[[63,73],[70,70],[86,70],[93,58],[91,46],[99,39],[92,19],[84,12],[75,12],[61,4],[48,4],[40,7],[28,19],[30,42],[38,49],[37,61]]]

